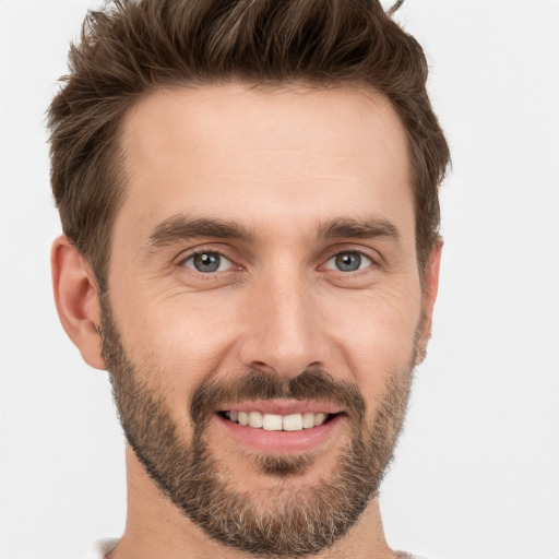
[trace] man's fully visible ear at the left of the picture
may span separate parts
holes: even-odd
[[[85,362],[106,369],[102,355],[99,300],[95,274],[78,249],[63,235],[50,252],[52,287],[58,317]]]

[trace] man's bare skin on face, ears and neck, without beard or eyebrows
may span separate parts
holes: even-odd
[[[143,367],[141,380],[163,394],[185,436],[195,388],[247,368],[294,378],[320,365],[359,388],[372,421],[391,376],[408,366],[418,324],[420,348],[428,338],[441,252],[439,246],[431,253],[423,290],[406,138],[390,103],[348,88],[233,83],[160,91],[130,110],[121,144],[129,180],[112,231],[108,293],[128,356],[157,364],[158,374]],[[234,222],[251,238],[154,246],[153,231],[180,216]],[[340,219],[390,224],[397,238],[317,237]],[[226,257],[223,269],[197,272],[188,259],[199,249]],[[366,257],[360,270],[336,270],[344,251]],[[55,241],[52,271],[66,331],[91,366],[105,369],[94,274],[64,237]],[[236,489],[262,499],[277,485],[251,462],[263,451],[234,440],[218,421],[209,440],[212,455],[235,473]],[[284,487],[297,491],[328,477],[347,440],[340,421],[311,450],[314,466]],[[112,558],[247,557],[185,518],[130,448],[127,475],[127,527]],[[395,557],[378,500],[316,557]]]

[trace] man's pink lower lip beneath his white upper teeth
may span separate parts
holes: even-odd
[[[215,415],[219,425],[239,442],[259,451],[274,454],[309,452],[330,440],[334,431],[344,421],[345,416],[338,414],[325,424],[301,429],[300,431],[266,431],[254,427],[229,421],[221,415]]]

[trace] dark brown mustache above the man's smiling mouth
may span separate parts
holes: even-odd
[[[306,369],[292,379],[249,369],[235,379],[205,380],[192,394],[190,417],[194,425],[201,425],[225,404],[275,399],[334,404],[359,423],[366,416],[365,397],[355,384],[337,380],[322,368],[314,368]]]

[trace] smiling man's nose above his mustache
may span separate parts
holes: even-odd
[[[246,367],[294,378],[325,367],[328,343],[312,286],[297,273],[275,274],[251,290],[240,359]]]

